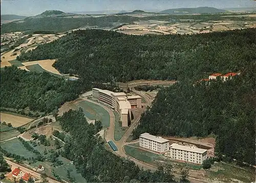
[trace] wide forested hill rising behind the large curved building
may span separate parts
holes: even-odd
[[[255,29],[182,36],[80,30],[17,59],[58,58],[54,67],[61,73],[91,81],[194,81],[215,72],[238,72],[248,65],[255,56],[255,36]]]

